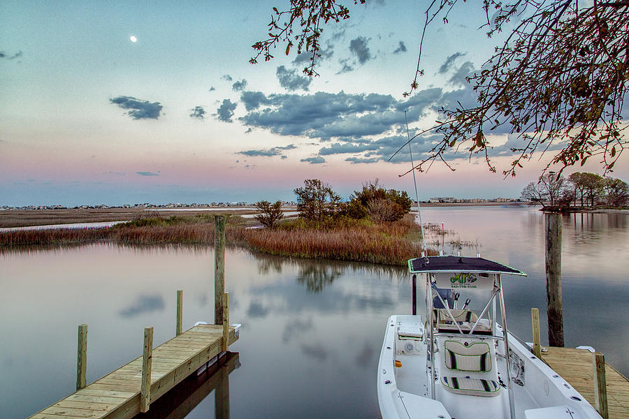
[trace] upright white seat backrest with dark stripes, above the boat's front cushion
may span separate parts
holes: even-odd
[[[445,366],[457,371],[491,371],[491,353],[486,342],[447,340],[444,342]]]

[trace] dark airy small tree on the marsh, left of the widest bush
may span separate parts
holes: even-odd
[[[341,210],[341,200],[329,184],[319,179],[305,179],[303,188],[294,190],[297,196],[297,210],[303,219],[317,221],[321,226],[328,216],[335,216]]]

